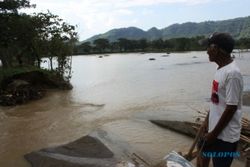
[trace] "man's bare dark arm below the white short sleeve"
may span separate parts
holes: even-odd
[[[234,113],[237,111],[236,105],[227,105],[225,111],[223,112],[220,120],[216,124],[214,130],[205,135],[207,142],[212,142],[216,137],[222,132],[222,130],[227,126],[227,124],[232,119]]]

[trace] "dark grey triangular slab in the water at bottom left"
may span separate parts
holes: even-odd
[[[74,142],[26,154],[32,167],[115,167],[118,160],[100,140],[84,136]]]

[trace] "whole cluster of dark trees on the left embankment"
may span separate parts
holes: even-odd
[[[29,0],[0,1],[0,68],[41,68],[42,58],[47,57],[50,70],[62,76],[71,69],[70,56],[77,41],[75,26],[49,11],[19,12],[24,8],[35,5]]]

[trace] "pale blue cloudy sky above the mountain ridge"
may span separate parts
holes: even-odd
[[[114,28],[165,28],[175,23],[250,16],[250,0],[30,0],[35,9],[77,25],[79,40]]]

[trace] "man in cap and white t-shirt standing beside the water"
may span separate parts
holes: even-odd
[[[214,167],[230,167],[241,133],[243,79],[231,58],[234,40],[227,33],[214,33],[207,40],[207,54],[218,65],[212,82],[208,133],[201,142],[202,167],[212,158]]]

